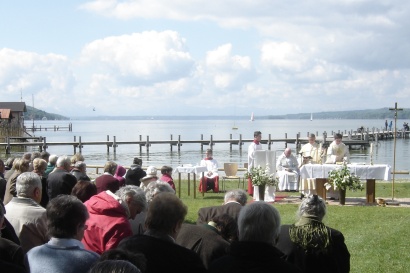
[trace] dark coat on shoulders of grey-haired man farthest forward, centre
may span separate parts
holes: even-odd
[[[242,205],[237,202],[230,202],[222,206],[213,206],[200,208],[198,210],[198,219],[196,220],[197,224],[208,224],[215,216],[222,214],[228,214],[235,221],[238,221],[239,212],[242,209]]]

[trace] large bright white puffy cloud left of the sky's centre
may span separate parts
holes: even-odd
[[[188,76],[194,64],[185,40],[174,31],[107,37],[87,44],[81,55],[124,85],[177,80]]]

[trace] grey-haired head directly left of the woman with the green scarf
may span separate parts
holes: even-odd
[[[238,217],[239,240],[275,244],[280,232],[280,214],[272,205],[253,202]]]

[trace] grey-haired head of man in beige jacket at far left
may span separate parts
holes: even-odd
[[[25,172],[17,177],[16,190],[18,197],[31,198],[37,203],[41,201],[41,179],[33,172]]]

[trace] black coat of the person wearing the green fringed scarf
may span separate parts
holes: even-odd
[[[283,225],[276,247],[282,251],[284,258],[298,266],[303,272],[337,272],[350,271],[350,254],[340,231],[326,227],[330,234],[328,253],[322,251],[304,251],[293,243],[289,236],[290,225]]]

